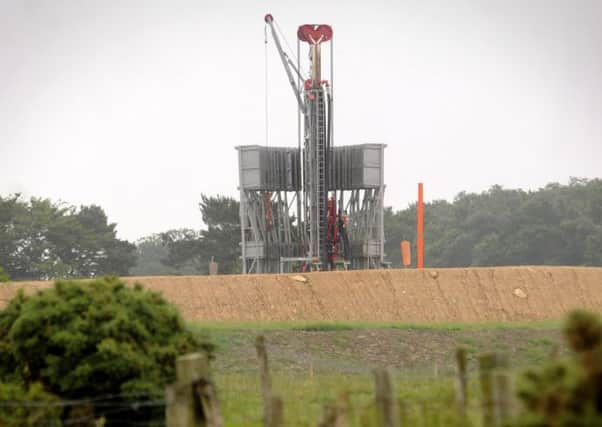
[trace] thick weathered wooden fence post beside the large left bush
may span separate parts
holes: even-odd
[[[176,359],[176,383],[165,389],[165,423],[167,427],[206,427],[202,411],[195,404],[193,383],[207,378],[206,354],[192,353]]]

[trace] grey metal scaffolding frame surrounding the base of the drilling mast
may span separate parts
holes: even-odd
[[[381,268],[384,262],[384,144],[339,146],[331,150],[328,194],[346,211],[351,257],[346,268]],[[236,147],[242,272],[292,272],[319,269],[309,209],[316,208],[316,189],[301,186],[297,148],[248,145]],[[295,154],[298,153],[298,154]],[[310,169],[308,169],[310,170]],[[309,173],[309,172],[308,172]],[[305,191],[303,191],[305,188]],[[316,232],[318,230],[315,230]],[[314,237],[315,239],[315,237]],[[317,243],[317,242],[316,242]],[[305,267],[300,267],[305,264]],[[348,267],[347,267],[348,266]]]

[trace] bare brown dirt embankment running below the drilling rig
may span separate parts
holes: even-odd
[[[497,267],[331,273],[131,277],[188,319],[486,322],[602,313],[602,268]],[[0,307],[47,282],[0,285]]]

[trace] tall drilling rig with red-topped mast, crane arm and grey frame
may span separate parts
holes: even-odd
[[[297,147],[245,145],[239,156],[243,273],[380,268],[384,265],[384,144],[334,146],[329,25],[301,25],[297,63],[265,16],[295,95]],[[267,35],[266,35],[267,43]],[[307,44],[309,75],[301,72]],[[322,78],[329,43],[331,79]]]

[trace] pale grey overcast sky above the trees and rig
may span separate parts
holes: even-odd
[[[0,0],[0,194],[201,228],[265,144],[264,21],[334,29],[335,144],[385,143],[386,205],[602,176],[602,1]],[[268,44],[270,145],[297,144]]]

